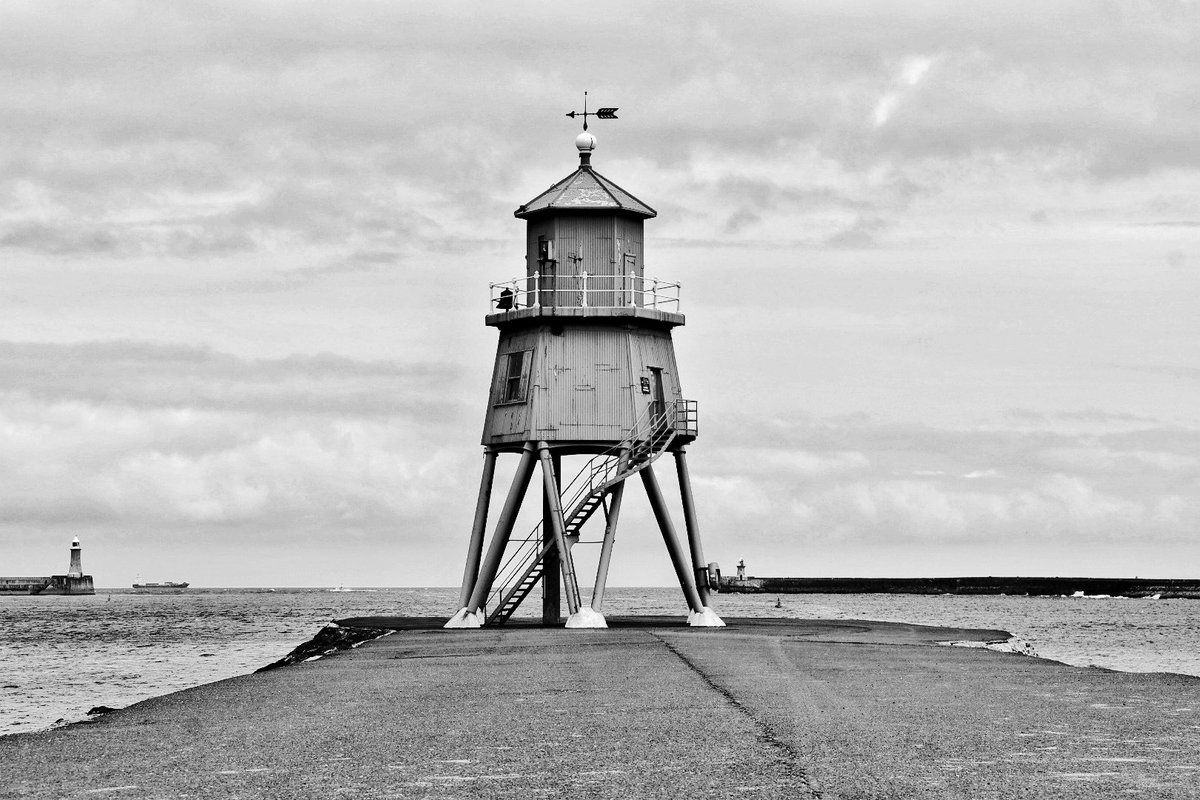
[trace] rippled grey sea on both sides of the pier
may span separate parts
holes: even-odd
[[[348,616],[445,616],[457,589],[188,589],[0,596],[0,735],[251,673]],[[1004,595],[715,595],[724,616],[1003,630],[1037,657],[1200,676],[1200,600]],[[539,604],[540,606],[540,604]],[[678,589],[610,588],[604,612],[678,614]],[[529,613],[540,613],[530,609]]]

